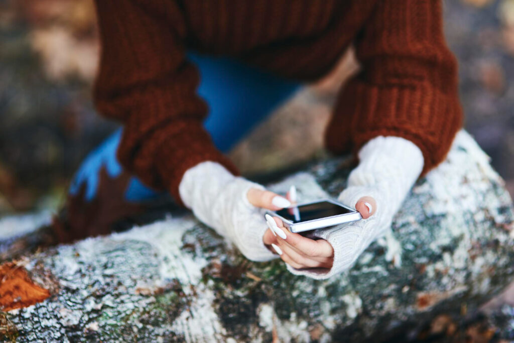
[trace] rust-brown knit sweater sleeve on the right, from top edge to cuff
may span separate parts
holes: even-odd
[[[443,161],[462,125],[441,2],[378,1],[355,47],[362,68],[340,91],[327,148],[357,152],[380,135],[406,138],[423,152],[425,174]]]

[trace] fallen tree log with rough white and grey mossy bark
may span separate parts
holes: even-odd
[[[295,184],[301,201],[337,196],[347,161],[318,161],[269,188]],[[51,295],[4,312],[2,330],[20,342],[415,339],[436,315],[472,312],[513,279],[513,222],[502,179],[461,132],[392,233],[338,277],[250,262],[191,214],[173,212],[15,261]],[[0,237],[12,231],[5,225]]]

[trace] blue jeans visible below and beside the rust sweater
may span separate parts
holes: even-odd
[[[209,104],[204,122],[214,145],[228,152],[255,124],[291,96],[300,84],[263,73],[228,58],[188,54],[200,72],[198,94]],[[72,179],[70,194],[76,195],[85,184],[87,201],[96,196],[99,173],[104,166],[110,177],[117,177],[122,167],[116,158],[122,129],[117,130],[83,161]],[[151,200],[161,195],[133,176],[125,190],[128,201]]]

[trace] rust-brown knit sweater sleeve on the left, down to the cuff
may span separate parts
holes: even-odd
[[[236,173],[203,128],[197,69],[186,60],[186,26],[175,2],[97,0],[98,111],[123,123],[118,158],[126,170],[180,202],[182,175],[211,160]]]

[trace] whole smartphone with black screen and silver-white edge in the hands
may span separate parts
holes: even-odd
[[[278,216],[291,232],[309,231],[362,219],[357,210],[329,199],[299,204],[276,212],[270,211],[270,214]]]

